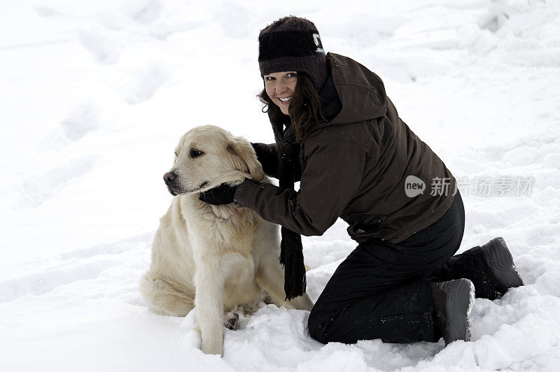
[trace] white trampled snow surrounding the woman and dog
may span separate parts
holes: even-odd
[[[307,313],[269,306],[225,331],[221,359],[193,315],[148,312],[174,146],[201,124],[273,141],[257,37],[289,14],[375,71],[463,180],[461,250],[510,245],[526,286],[476,300],[471,342],[321,345]],[[559,368],[559,1],[6,0],[0,82],[1,371]],[[353,246],[342,222],[304,238],[312,299]]]

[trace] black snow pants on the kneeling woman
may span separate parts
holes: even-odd
[[[311,337],[321,343],[374,338],[389,343],[437,342],[442,331],[434,322],[432,282],[468,278],[477,293],[489,291],[479,288],[484,286],[479,277],[488,269],[473,258],[477,248],[451,258],[464,229],[465,210],[457,192],[447,213],[405,241],[360,243],[311,309]]]

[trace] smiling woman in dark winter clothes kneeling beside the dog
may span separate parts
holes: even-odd
[[[473,283],[487,299],[523,284],[503,239],[453,256],[465,225],[455,178],[400,120],[377,75],[325,55],[312,22],[284,17],[262,29],[259,65],[276,144],[253,147],[280,187],[246,180],[200,198],[281,224],[288,299],[305,287],[300,234],[348,222],[358,247],[311,310],[317,341],[468,341]]]

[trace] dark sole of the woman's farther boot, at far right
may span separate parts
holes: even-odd
[[[507,289],[523,285],[523,280],[515,269],[512,254],[503,238],[493,238],[489,244],[482,246],[482,255],[498,280],[497,287],[500,293],[504,294]]]

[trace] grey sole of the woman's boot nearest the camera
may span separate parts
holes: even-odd
[[[447,295],[447,327],[443,336],[445,345],[458,340],[470,341],[468,317],[475,303],[475,286],[468,279],[456,279],[437,283],[437,287]]]

